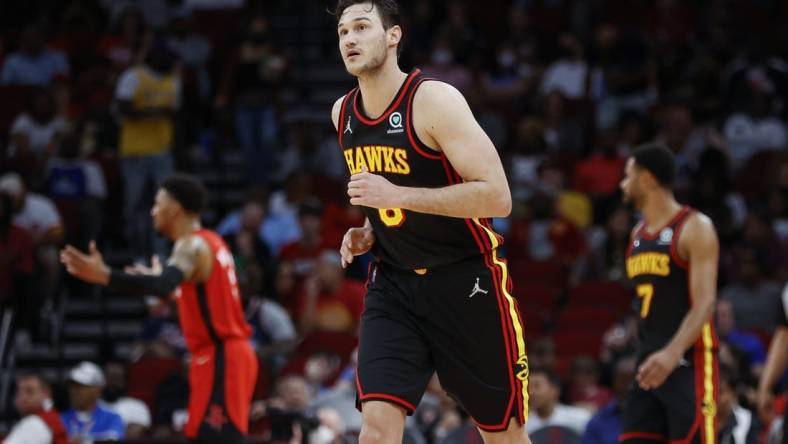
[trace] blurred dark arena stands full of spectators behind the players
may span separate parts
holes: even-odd
[[[618,182],[629,150],[654,140],[677,156],[678,199],[709,215],[722,243],[720,436],[779,439],[779,418],[751,413],[743,435],[734,418],[753,407],[788,273],[788,1],[400,4],[400,66],[463,92],[507,170],[514,210],[495,227],[540,369],[534,444],[616,442],[636,340],[623,260],[639,217]],[[337,254],[363,216],[330,120],[354,86],[330,7],[0,3],[0,436],[19,419],[15,375],[44,375],[63,411],[69,371],[90,361],[106,377],[94,398],[116,407],[129,439],[181,439],[176,311],[68,279],[56,254],[96,239],[114,266],[166,255],[149,209],[180,170],[209,187],[204,223],[233,251],[254,327],[251,438],[294,442],[296,424],[303,442],[354,442],[370,259],[345,272]],[[480,442],[437,380],[406,440]]]

